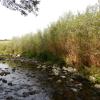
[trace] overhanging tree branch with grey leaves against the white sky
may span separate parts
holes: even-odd
[[[19,1],[19,2],[18,2]],[[38,0],[0,0],[1,5],[15,11],[20,11],[22,15],[28,15],[29,13],[34,13],[37,15]]]

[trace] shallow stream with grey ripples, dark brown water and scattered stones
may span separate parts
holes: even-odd
[[[70,66],[5,60],[0,62],[0,100],[100,100],[100,85]]]

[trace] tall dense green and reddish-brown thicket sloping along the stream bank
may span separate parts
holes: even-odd
[[[64,61],[75,66],[100,66],[100,12],[68,13],[44,31],[14,38],[0,53]]]

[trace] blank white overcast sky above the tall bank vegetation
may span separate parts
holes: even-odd
[[[72,11],[83,12],[88,5],[97,3],[98,0],[40,0],[39,15],[29,14],[22,16],[20,12],[12,11],[0,5],[0,39],[11,39],[27,33],[35,34],[43,30],[59,17]]]

